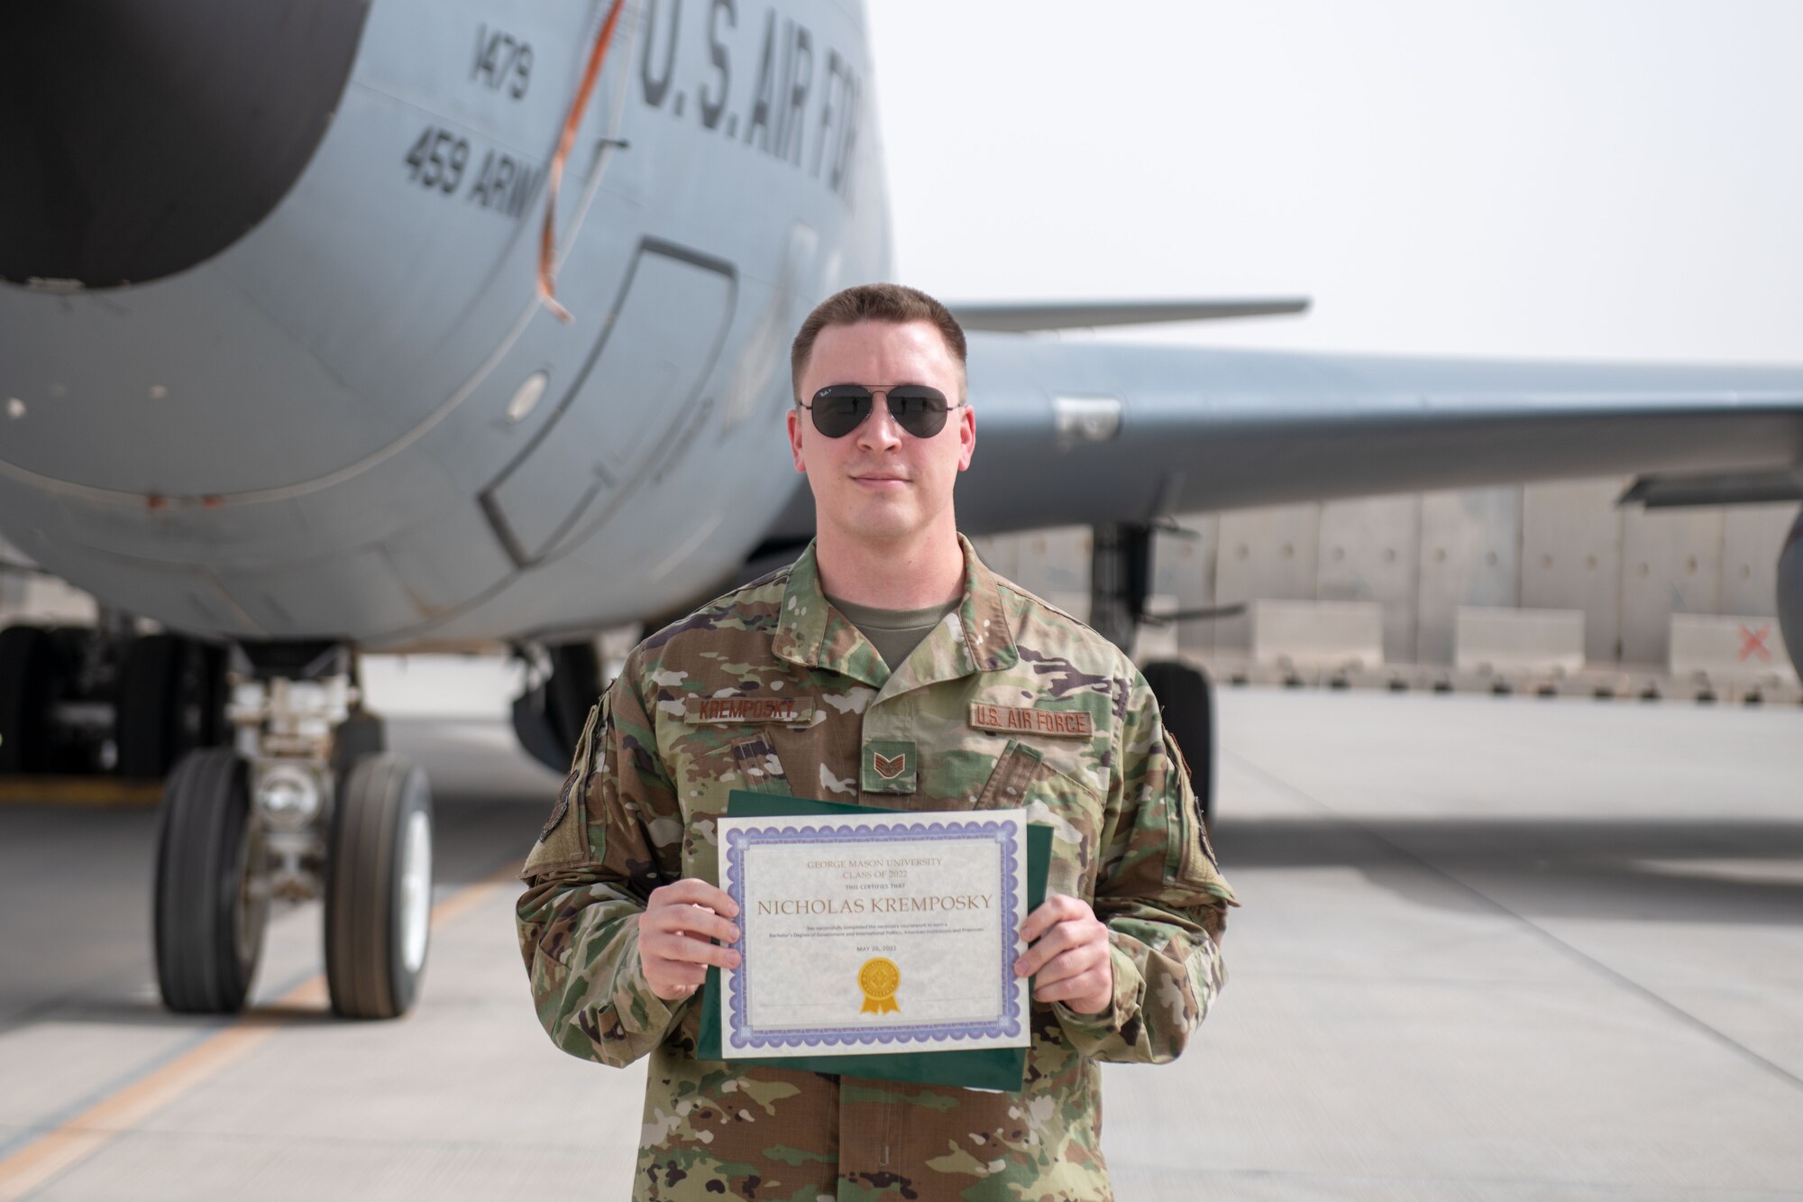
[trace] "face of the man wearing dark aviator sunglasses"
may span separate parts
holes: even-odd
[[[963,374],[939,330],[925,321],[860,321],[829,325],[813,343],[801,381],[801,399],[828,384],[930,384],[957,404]],[[856,430],[828,439],[806,410],[790,408],[790,449],[795,471],[808,485],[820,525],[860,541],[911,538],[952,507],[952,484],[970,467],[977,424],[970,406],[950,411],[945,428],[916,439],[889,415],[889,393],[880,392],[871,415]]]

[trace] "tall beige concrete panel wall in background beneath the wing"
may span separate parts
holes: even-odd
[[[1778,552],[1796,505],[1619,509],[1626,478],[1414,493],[1179,516],[1152,588],[1185,610],[1237,601],[1383,606],[1390,664],[1457,661],[1469,608],[1576,610],[1585,661],[1664,671],[1673,614],[1776,614]],[[1089,531],[981,540],[1002,574],[1040,594],[1089,583]],[[1181,623],[1186,652],[1251,657],[1251,615]]]

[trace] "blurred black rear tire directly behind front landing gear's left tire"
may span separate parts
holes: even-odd
[[[225,742],[225,648],[180,635],[132,641],[119,671],[119,774],[166,776],[184,753]]]

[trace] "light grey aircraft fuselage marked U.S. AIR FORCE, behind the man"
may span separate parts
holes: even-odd
[[[887,274],[862,18],[627,5],[555,204],[561,323],[548,170],[606,11],[377,0],[249,231],[0,285],[0,534],[252,641],[584,630],[728,576],[797,485],[795,327]]]

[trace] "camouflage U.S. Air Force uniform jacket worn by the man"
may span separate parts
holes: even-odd
[[[1107,1198],[1096,1061],[1172,1059],[1221,989],[1233,893],[1145,677],[961,543],[963,605],[894,671],[828,605],[810,547],[645,639],[590,715],[521,874],[519,946],[557,1047],[651,1054],[635,1198]],[[974,726],[1010,718],[1060,733]],[[905,765],[885,778],[876,756]],[[1035,1002],[1019,1094],[696,1059],[700,1005],[651,993],[636,919],[660,884],[718,884],[734,789],[1026,807],[1055,830],[1049,892],[1109,926],[1112,1007]]]

